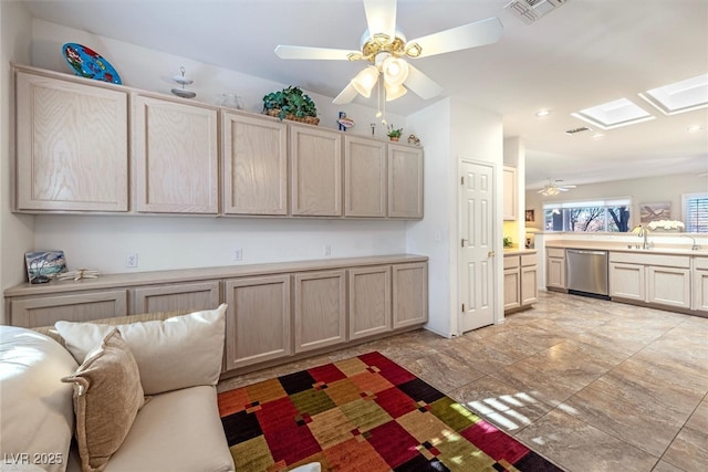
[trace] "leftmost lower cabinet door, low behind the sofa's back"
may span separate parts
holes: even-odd
[[[13,326],[52,326],[59,321],[88,322],[91,319],[126,316],[127,290],[53,295],[10,302],[10,323]]]

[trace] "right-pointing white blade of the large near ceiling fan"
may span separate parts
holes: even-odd
[[[498,18],[492,17],[475,23],[464,24],[450,30],[428,34],[408,41],[407,44],[417,43],[420,46],[419,57],[444,54],[469,48],[477,48],[499,41],[503,27]]]

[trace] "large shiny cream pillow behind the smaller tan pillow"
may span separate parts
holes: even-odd
[[[227,305],[165,321],[117,325],[140,370],[145,395],[197,385],[217,385],[221,374]],[[82,363],[114,327],[56,322],[66,348]]]

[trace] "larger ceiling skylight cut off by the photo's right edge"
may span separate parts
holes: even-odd
[[[639,96],[666,115],[708,106],[708,74],[652,88]]]

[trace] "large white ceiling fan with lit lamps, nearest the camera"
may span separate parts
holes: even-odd
[[[499,40],[503,29],[499,19],[492,17],[407,41],[396,25],[396,0],[364,0],[364,10],[368,29],[362,35],[358,51],[278,45],[275,54],[281,59],[367,61],[369,65],[334,98],[336,104],[350,103],[357,93],[368,98],[379,75],[387,102],[402,97],[408,90],[428,99],[442,92],[442,87],[406,59],[491,44]]]

